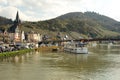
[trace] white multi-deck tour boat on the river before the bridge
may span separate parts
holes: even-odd
[[[85,43],[81,42],[67,42],[64,45],[64,51],[77,54],[88,53],[88,48],[85,45]]]

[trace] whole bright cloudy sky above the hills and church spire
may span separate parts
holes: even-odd
[[[120,21],[120,0],[0,0],[0,16],[41,21],[69,13],[93,11]]]

